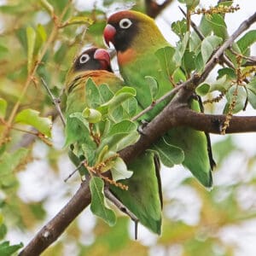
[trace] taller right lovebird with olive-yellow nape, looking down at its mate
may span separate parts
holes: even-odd
[[[148,15],[132,10],[111,15],[104,29],[104,39],[108,46],[112,43],[116,49],[120,74],[126,85],[137,90],[137,102],[141,108],[147,108],[155,99],[172,90],[173,82],[185,79],[183,72],[176,67],[172,59],[175,49],[166,41],[154,20]],[[163,55],[164,58],[160,58]],[[169,68],[172,73],[168,72]],[[154,96],[152,88],[148,85],[148,78],[157,83],[158,90]],[[143,118],[153,119],[167,103],[167,100],[161,102]],[[191,100],[190,104],[192,109],[200,111],[198,102]],[[189,127],[178,127],[168,131],[153,148],[160,149],[162,154],[165,154],[166,145],[181,148],[183,166],[187,167],[201,184],[211,187],[214,161],[208,142],[204,132]]]

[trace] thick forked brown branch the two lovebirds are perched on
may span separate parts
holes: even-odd
[[[120,157],[123,158],[126,163],[149,148],[154,141],[173,127],[186,125],[200,131],[220,133],[221,125],[225,119],[224,115],[195,113],[188,108],[187,102],[191,96],[193,88],[207,78],[207,75],[215,66],[216,60],[223,55],[224,50],[230,47],[241,32],[247,30],[247,28],[255,21],[256,13],[249,19],[243,21],[236,32],[231,35],[231,37],[212,56],[210,61],[207,62],[205,71],[201,76],[195,73],[191,79],[184,82],[183,86],[180,86],[180,90],[178,90],[177,95],[173,98],[172,102],[170,102],[159,115],[144,127],[143,135],[137,143],[119,152]],[[230,120],[230,126],[226,133],[246,131],[256,131],[256,117],[234,116]],[[61,233],[66,230],[73,219],[76,218],[85,207],[88,207],[89,204],[90,189],[89,181],[87,180],[81,184],[81,187],[67,205],[57,213],[55,218],[50,220],[49,223],[38,232],[19,255],[31,256],[42,253],[45,248],[49,247],[52,242],[61,236]]]

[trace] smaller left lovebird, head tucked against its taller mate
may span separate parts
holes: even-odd
[[[121,89],[124,82],[119,79],[110,66],[110,57],[105,49],[90,48],[85,50],[73,62],[67,73],[65,93],[66,99],[66,146],[71,146],[70,158],[79,166],[83,155],[79,155],[81,144],[88,143],[79,120],[72,118],[73,113],[83,112],[88,107],[85,86],[92,79],[96,86],[107,84],[115,93]],[[75,148],[76,150],[73,150]],[[128,190],[110,185],[110,189],[119,201],[127,207],[138,221],[154,233],[160,234],[162,195],[159,177],[158,157],[146,151],[137,159],[132,160],[128,170],[133,171],[130,178],[119,180],[128,186]]]

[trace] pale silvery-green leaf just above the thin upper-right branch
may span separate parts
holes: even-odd
[[[222,43],[222,38],[217,36],[208,36],[201,43],[201,55],[203,63],[206,64],[211,57],[213,51]]]

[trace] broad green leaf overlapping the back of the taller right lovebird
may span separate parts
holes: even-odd
[[[171,77],[174,70],[177,68],[176,63],[173,61],[175,49],[171,46],[160,48],[155,52],[156,57],[159,59],[161,69],[166,73],[167,77]]]

